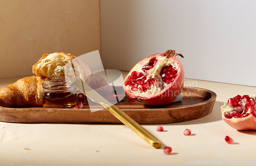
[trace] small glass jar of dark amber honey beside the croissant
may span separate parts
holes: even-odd
[[[70,80],[45,78],[42,90],[45,108],[71,108],[77,104],[75,85]]]

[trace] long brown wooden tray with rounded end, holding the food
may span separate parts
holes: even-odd
[[[201,89],[184,87],[183,99],[165,106],[143,105],[124,99],[117,103],[124,113],[139,124],[175,123],[199,119],[209,115],[214,107],[216,93]],[[0,121],[14,123],[112,123],[120,124],[106,109],[91,113],[89,106],[82,109],[0,106]]]

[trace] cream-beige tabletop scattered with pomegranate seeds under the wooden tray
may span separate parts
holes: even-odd
[[[126,72],[123,72],[125,75]],[[0,80],[0,88],[16,78]],[[255,87],[185,79],[185,86],[217,94],[207,117],[173,124],[142,125],[162,142],[155,149],[124,125],[16,124],[0,122],[0,165],[256,165],[256,131],[237,131],[221,119],[220,106],[237,94],[254,94]],[[163,126],[166,132],[155,131]],[[184,136],[188,128],[192,136]],[[235,144],[224,138],[229,135]],[[165,155],[163,148],[173,148]]]

